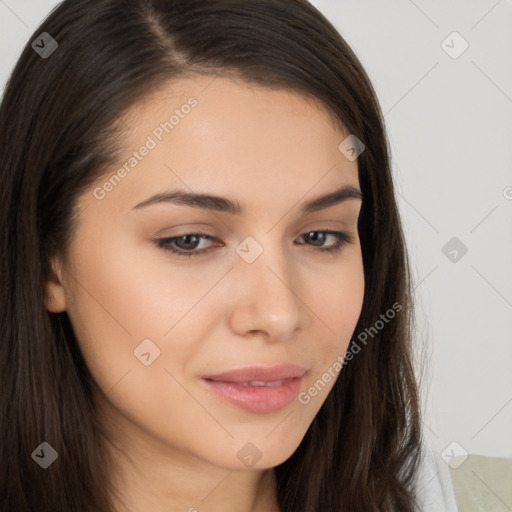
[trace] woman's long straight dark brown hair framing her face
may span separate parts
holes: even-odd
[[[31,45],[43,32],[58,43],[46,58]],[[96,384],[66,313],[44,305],[49,259],[78,195],[118,157],[122,114],[191,72],[316,98],[365,145],[365,295],[348,349],[360,351],[275,468],[281,512],[417,510],[412,290],[383,116],[359,60],[306,0],[65,0],[27,43],[0,107],[0,508],[111,510]],[[59,454],[46,470],[32,460],[42,442]]]

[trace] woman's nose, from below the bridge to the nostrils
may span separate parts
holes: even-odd
[[[270,341],[285,341],[304,328],[304,298],[300,278],[282,248],[264,247],[252,263],[238,259],[233,269],[232,330],[241,336],[263,333]]]

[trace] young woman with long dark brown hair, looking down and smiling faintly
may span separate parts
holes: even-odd
[[[413,511],[382,115],[305,0],[65,0],[1,105],[2,510]]]

